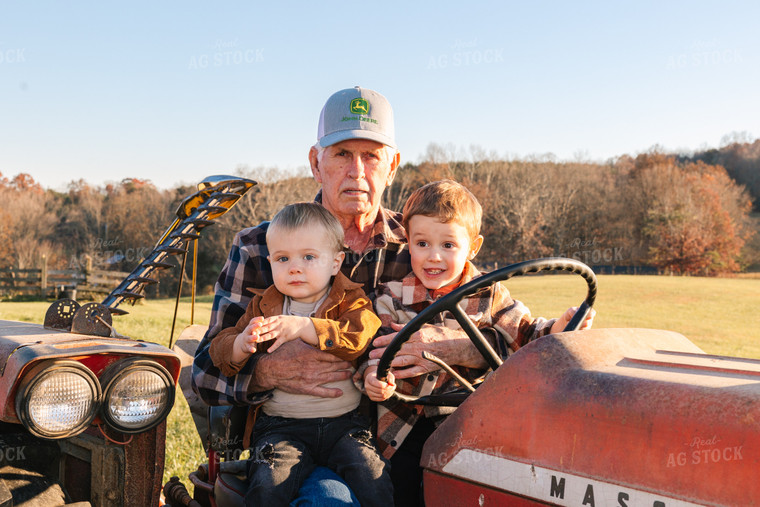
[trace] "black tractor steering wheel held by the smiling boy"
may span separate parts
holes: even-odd
[[[580,305],[578,311],[575,313],[567,326],[565,326],[565,329],[563,331],[577,330],[583,320],[586,318],[586,315],[588,315],[588,313],[591,311],[591,307],[594,305],[594,300],[596,299],[596,276],[594,275],[594,272],[591,270],[591,268],[580,261],[576,261],[574,259],[565,259],[562,257],[550,257],[511,264],[509,266],[505,266],[501,269],[497,269],[496,271],[492,271],[491,273],[487,273],[483,276],[475,278],[469,283],[440,298],[438,301],[418,313],[416,317],[409,321],[406,326],[404,326],[404,328],[396,334],[396,336],[393,338],[393,341],[388,344],[388,347],[385,349],[385,352],[383,353],[377,365],[377,378],[382,381],[386,381],[388,378],[388,370],[390,369],[391,361],[393,361],[393,358],[396,357],[396,354],[398,354],[401,346],[406,343],[412,334],[418,331],[424,324],[430,322],[433,317],[445,311],[449,311],[452,313],[452,315],[454,315],[454,318],[457,320],[459,325],[462,326],[462,330],[467,334],[470,340],[472,340],[472,343],[483,355],[483,358],[486,360],[491,369],[496,370],[501,365],[502,359],[498,356],[498,354],[496,354],[493,347],[491,347],[488,341],[486,341],[478,328],[475,327],[472,320],[470,320],[467,315],[465,315],[464,311],[459,307],[458,303],[465,297],[472,295],[483,287],[490,286],[496,282],[501,282],[503,280],[508,280],[514,276],[521,276],[528,273],[538,273],[541,271],[569,271],[571,273],[582,276],[586,280],[586,284],[588,285],[586,299]],[[423,356],[424,355],[425,353],[423,353]],[[438,364],[445,368],[445,365],[441,363]],[[451,373],[448,368],[446,369]],[[451,396],[450,393],[446,393],[442,395],[419,397],[409,396],[396,392],[394,393],[394,396],[410,403],[456,406],[464,401],[464,398],[469,393],[462,393],[464,396],[460,393],[452,394],[454,395]]]

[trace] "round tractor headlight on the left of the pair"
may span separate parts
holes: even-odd
[[[92,422],[100,384],[76,361],[45,361],[24,376],[16,394],[16,413],[30,433],[42,438],[67,438]]]

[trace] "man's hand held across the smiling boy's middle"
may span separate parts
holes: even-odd
[[[404,327],[401,324],[391,324],[391,326],[396,331]],[[377,348],[370,351],[370,359],[379,359],[395,336],[396,333],[391,333],[375,338],[372,344]],[[401,346],[391,362],[397,379],[417,377],[438,369],[436,364],[422,359],[423,350],[438,356],[450,366],[488,367],[485,359],[464,331],[426,324]]]

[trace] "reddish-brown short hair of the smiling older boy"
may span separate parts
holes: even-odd
[[[467,229],[470,239],[480,234],[483,208],[472,192],[454,180],[433,181],[418,188],[407,199],[403,211],[404,229],[415,215],[438,218],[443,223],[456,222]]]

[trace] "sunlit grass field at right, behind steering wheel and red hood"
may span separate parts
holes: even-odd
[[[677,331],[710,354],[760,359],[760,279],[606,275],[598,277],[594,327]],[[586,296],[569,274],[507,281],[533,315],[556,317]]]

